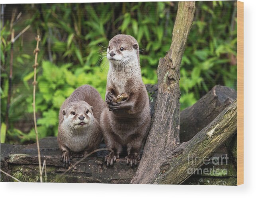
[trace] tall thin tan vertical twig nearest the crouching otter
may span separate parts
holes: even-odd
[[[40,147],[39,147],[39,141],[38,141],[38,132],[37,132],[37,120],[36,120],[36,116],[35,116],[35,87],[36,87],[36,75],[37,75],[37,56],[38,56],[38,52],[39,52],[39,41],[40,41],[40,36],[37,35],[37,37],[35,38],[35,40],[37,41],[37,47],[34,50],[35,53],[35,64],[33,65],[34,67],[34,81],[33,81],[33,113],[34,113],[34,125],[35,125],[35,138],[36,138],[36,142],[37,142],[37,152],[38,152],[38,163],[39,163],[39,173],[40,173],[40,182],[43,182],[43,176],[41,174],[42,172],[42,167],[41,167],[41,154],[40,154]]]

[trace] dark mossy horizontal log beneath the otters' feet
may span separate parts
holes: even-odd
[[[64,176],[57,177],[66,171],[60,161],[61,151],[57,144],[57,138],[43,138],[39,144],[42,162],[46,160],[48,182],[55,179],[54,182],[129,183],[136,172],[136,167],[130,168],[126,165],[125,156],[121,156],[121,159],[117,160],[113,167],[107,167],[104,163],[107,152],[102,151],[86,158]],[[101,147],[104,146],[104,144],[101,145]],[[72,159],[72,162],[75,163],[78,160]],[[39,181],[36,144],[27,146],[1,144],[1,169],[20,178],[20,181]],[[10,181],[10,179],[2,180],[1,177],[1,181]]]

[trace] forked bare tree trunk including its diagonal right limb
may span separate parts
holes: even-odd
[[[179,2],[170,50],[158,65],[158,96],[152,126],[133,184],[180,184],[203,164],[189,156],[211,157],[236,131],[236,100],[190,141],[180,144],[180,64],[195,2]]]

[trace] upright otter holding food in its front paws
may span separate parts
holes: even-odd
[[[116,35],[109,41],[107,59],[108,109],[103,110],[100,121],[106,146],[113,152],[105,161],[113,165],[122,147],[127,146],[127,164],[137,165],[150,127],[149,97],[141,77],[137,40],[129,35]]]

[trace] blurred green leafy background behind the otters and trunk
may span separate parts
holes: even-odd
[[[36,112],[39,138],[56,136],[63,101],[80,85],[106,90],[106,47],[117,34],[129,34],[140,46],[145,84],[157,83],[159,58],[170,48],[178,2],[1,5],[1,142],[31,143],[33,129],[33,50],[37,33]],[[16,10],[13,83],[6,133],[10,73],[10,23]],[[237,87],[235,1],[196,2],[195,17],[182,59],[181,109],[194,104],[214,85]]]

